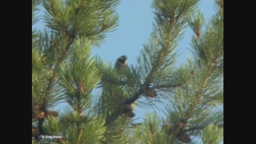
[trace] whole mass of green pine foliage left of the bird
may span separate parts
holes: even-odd
[[[32,116],[36,143],[97,144],[104,138],[105,120],[92,113],[92,90],[101,78],[90,57],[117,26],[119,0],[44,0],[44,32],[32,31]],[[32,0],[34,12],[40,1]],[[49,108],[67,102],[72,110],[58,117]],[[53,113],[58,113],[52,111]],[[39,133],[39,134],[38,134]],[[47,139],[42,136],[59,135]]]

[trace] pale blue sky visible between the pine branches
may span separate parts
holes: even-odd
[[[151,7],[152,0],[121,0],[117,7],[119,15],[119,26],[114,32],[107,34],[105,42],[100,47],[92,48],[92,56],[100,56],[104,62],[110,62],[114,66],[114,62],[121,55],[128,56],[128,64],[136,65],[136,58],[140,55],[142,45],[148,42],[150,33],[152,32],[152,23],[154,22],[153,9]],[[206,23],[211,16],[216,12],[214,0],[201,0],[199,5],[200,10],[204,13]],[[38,15],[44,14],[42,11]],[[34,27],[34,26],[33,26]],[[43,29],[44,24],[39,21],[35,27]],[[185,29],[184,38],[176,48],[180,56],[177,64],[186,62],[186,56],[190,55],[192,30],[188,27]],[[160,106],[160,105],[158,105]],[[58,108],[62,105],[58,106]],[[135,118],[140,117],[137,122],[141,122],[144,114],[152,112],[150,108],[138,108]],[[158,111],[160,116],[164,113]]]

